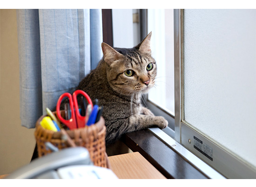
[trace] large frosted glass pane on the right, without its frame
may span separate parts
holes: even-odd
[[[184,120],[256,166],[256,10],[184,10]]]

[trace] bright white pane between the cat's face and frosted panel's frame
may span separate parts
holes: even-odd
[[[157,78],[148,100],[174,116],[173,9],[148,9],[148,33],[151,31]]]

